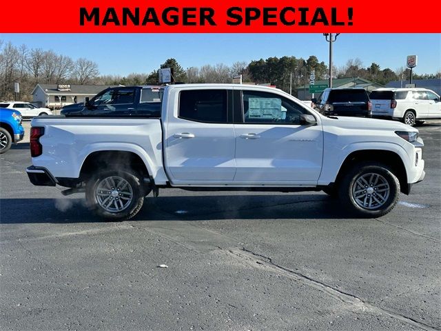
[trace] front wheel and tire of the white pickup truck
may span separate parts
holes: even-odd
[[[376,176],[371,177],[372,174]],[[400,181],[387,165],[378,162],[356,163],[342,178],[338,194],[348,212],[359,217],[381,217],[396,206]]]

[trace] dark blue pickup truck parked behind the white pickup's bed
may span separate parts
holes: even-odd
[[[163,86],[119,86],[106,88],[85,103],[61,109],[65,117],[152,116],[161,113]]]

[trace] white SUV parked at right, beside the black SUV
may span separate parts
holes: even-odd
[[[379,88],[369,96],[372,117],[396,119],[414,126],[429,119],[441,119],[440,96],[425,88]]]

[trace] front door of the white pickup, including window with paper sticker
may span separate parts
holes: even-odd
[[[243,90],[243,123],[236,123],[236,183],[316,185],[323,132],[300,125],[302,105],[280,94]]]

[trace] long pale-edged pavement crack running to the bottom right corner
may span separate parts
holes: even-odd
[[[274,261],[272,261],[270,257],[265,257],[265,255],[252,252],[251,250],[247,250],[246,248],[241,248],[240,250],[229,250],[228,252],[234,258],[239,259],[252,268],[257,268],[259,270],[265,270],[267,272],[279,274],[280,276],[292,279],[298,283],[301,283],[302,285],[310,286],[311,288],[315,288],[320,292],[328,294],[334,299],[338,299],[339,301],[342,301],[342,303],[345,303],[347,305],[347,308],[350,310],[354,310],[356,312],[361,310],[362,312],[373,312],[376,314],[382,314],[387,317],[391,317],[392,319],[398,319],[399,321],[413,325],[416,328],[420,328],[422,330],[441,330],[439,326],[429,325],[427,323],[424,323],[423,321],[418,321],[417,319],[413,319],[411,317],[405,316],[404,314],[400,314],[400,312],[379,307],[375,303],[364,301],[356,295],[334,288],[330,285],[327,285],[326,283],[323,283],[322,281],[312,279],[311,277],[308,277],[301,272],[296,272],[294,270],[290,270],[289,268],[285,268],[282,265],[274,263]]]

